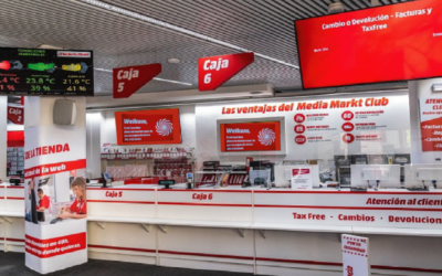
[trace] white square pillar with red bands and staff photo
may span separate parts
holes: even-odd
[[[56,115],[72,116],[67,125],[54,124],[60,103],[75,110]],[[25,265],[41,274],[87,262],[85,103],[84,97],[24,103]]]

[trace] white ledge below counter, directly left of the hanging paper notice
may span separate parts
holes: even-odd
[[[250,229],[293,232],[352,233],[351,226],[253,223]]]

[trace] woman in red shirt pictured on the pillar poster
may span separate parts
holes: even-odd
[[[71,189],[75,194],[75,201],[67,206],[60,209],[61,214],[59,219],[86,219],[87,203],[86,203],[86,179],[75,178],[71,182]]]

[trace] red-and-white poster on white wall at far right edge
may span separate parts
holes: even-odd
[[[422,151],[442,151],[442,98],[421,98]]]

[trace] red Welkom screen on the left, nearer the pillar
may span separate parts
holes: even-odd
[[[118,145],[181,144],[179,109],[115,113]]]

